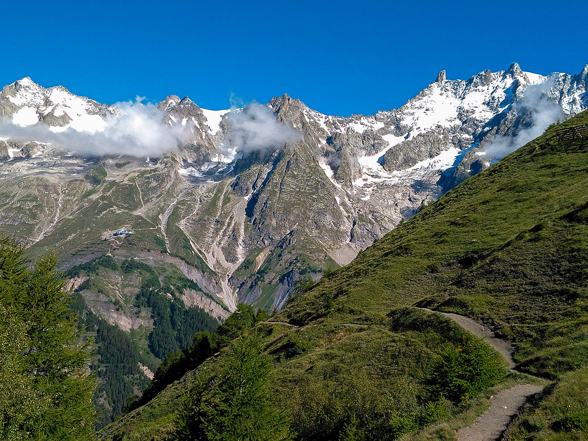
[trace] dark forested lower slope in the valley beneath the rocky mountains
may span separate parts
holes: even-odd
[[[178,270],[149,266],[141,260],[114,259],[102,255],[80,265],[71,266],[66,277],[82,283],[75,285],[72,309],[79,313],[79,328],[93,338],[95,345],[91,370],[98,379],[94,403],[99,427],[122,415],[128,400],[148,387],[146,373],[155,372],[166,356],[189,348],[193,337],[203,330],[213,331],[218,321],[198,306],[186,306],[181,296],[185,289],[198,290],[198,285]],[[104,294],[111,283],[133,286],[137,293],[130,298],[115,297],[116,310],[125,307],[146,309],[146,320],[139,329],[129,332],[92,311],[83,292],[86,289]],[[73,288],[73,286],[72,286]],[[128,293],[128,286],[123,292]],[[94,303],[94,306],[96,303]],[[149,319],[158,326],[149,326]]]

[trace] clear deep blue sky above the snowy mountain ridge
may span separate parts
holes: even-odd
[[[204,108],[288,93],[332,115],[402,105],[440,69],[577,74],[585,0],[2,2],[0,83]]]

